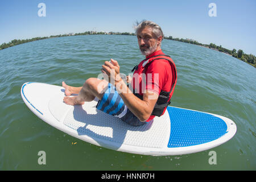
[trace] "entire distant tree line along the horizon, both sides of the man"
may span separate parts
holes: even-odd
[[[24,40],[20,40],[20,39],[14,39],[11,40],[11,42],[9,43],[3,43],[0,46],[0,50],[1,49],[5,49],[8,47],[12,47],[12,46],[16,46],[18,44],[23,44],[23,43],[27,43],[27,42],[32,42],[35,40],[42,40],[42,39],[49,39],[49,38],[56,38],[56,37],[61,37],[61,36],[73,36],[73,35],[135,35],[134,33],[130,33],[130,32],[96,32],[96,31],[86,31],[86,32],[82,32],[82,33],[70,33],[70,34],[63,34],[63,35],[51,35],[51,36],[44,36],[44,37],[36,37],[36,38],[32,38],[32,39],[24,39]],[[189,44],[195,44],[197,46],[204,46],[210,49],[214,49],[216,51],[220,51],[220,52],[224,52],[227,53],[229,55],[232,55],[233,57],[236,57],[237,59],[240,59],[242,61],[244,61],[245,63],[249,63],[250,65],[253,65],[256,68],[256,57],[252,54],[247,55],[246,53],[244,53],[241,49],[239,49],[238,51],[236,49],[233,49],[232,51],[229,49],[226,49],[224,47],[221,46],[216,46],[213,43],[208,44],[201,44],[199,42],[197,42],[196,40],[192,40],[192,39],[179,39],[179,38],[172,38],[172,36],[168,36],[168,37],[164,37],[164,39],[168,39],[168,40],[175,40],[175,41],[179,41],[179,42],[184,42],[184,43],[189,43]]]

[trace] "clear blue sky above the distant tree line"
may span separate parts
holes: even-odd
[[[46,17],[38,16],[39,3],[46,4]],[[216,17],[208,15],[209,3],[216,3]],[[0,44],[93,28],[134,32],[134,22],[142,19],[158,23],[165,36],[195,39],[256,55],[255,0],[0,1]]]

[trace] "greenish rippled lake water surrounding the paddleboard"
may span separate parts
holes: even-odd
[[[135,36],[53,38],[0,51],[0,170],[255,170],[256,69],[191,44],[163,40],[162,49],[177,67],[172,105],[232,119],[237,133],[231,140],[195,154],[155,157],[94,146],[49,126],[23,103],[24,82],[81,86],[110,58],[125,74],[144,59]],[[212,150],[216,165],[208,163]],[[39,151],[46,152],[46,165],[38,164]]]

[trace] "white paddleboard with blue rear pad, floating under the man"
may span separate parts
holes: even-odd
[[[96,109],[97,99],[84,105],[65,104],[64,92],[62,86],[39,82],[26,82],[20,90],[24,103],[44,122],[116,151],[153,156],[191,154],[227,142],[237,130],[229,118],[174,106],[145,125],[130,126]]]

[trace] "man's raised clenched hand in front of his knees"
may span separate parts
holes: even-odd
[[[111,63],[110,63],[111,61]],[[120,67],[116,60],[110,59],[110,61],[105,61],[105,64],[102,65],[101,72],[109,76],[110,80],[119,82],[122,80],[120,73]]]

